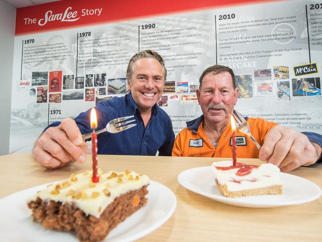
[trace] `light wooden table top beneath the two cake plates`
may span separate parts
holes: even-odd
[[[128,169],[146,174],[176,195],[177,207],[173,215],[159,229],[142,238],[140,241],[143,242],[322,241],[322,197],[299,205],[245,208],[196,194],[177,181],[180,172],[210,166],[218,160],[223,159],[100,155],[99,167],[104,171]],[[257,159],[238,159],[238,162],[260,163]],[[70,174],[90,170],[92,166],[88,156],[83,164],[74,163],[58,170],[48,170],[33,161],[29,153],[0,156],[0,164],[1,198],[26,188],[67,179]],[[322,187],[322,165],[300,167],[290,174]]]

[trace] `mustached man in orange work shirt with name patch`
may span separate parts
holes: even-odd
[[[232,69],[222,65],[207,68],[197,90],[203,115],[187,122],[179,132],[172,156],[231,157],[230,115],[238,92]],[[259,150],[249,136],[237,131],[237,157],[260,158],[284,172],[321,162],[322,135],[303,134],[260,118],[249,118],[247,122],[262,147]]]

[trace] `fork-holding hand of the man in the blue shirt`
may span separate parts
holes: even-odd
[[[34,158],[48,168],[60,168],[69,161],[84,162],[87,145],[76,122],[64,119],[57,127],[49,127],[35,142]]]

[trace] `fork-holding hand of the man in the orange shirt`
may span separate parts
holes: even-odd
[[[321,156],[321,146],[294,129],[274,126],[266,135],[259,158],[289,172],[299,166],[314,164]]]

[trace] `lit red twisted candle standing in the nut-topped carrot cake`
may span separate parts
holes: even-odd
[[[92,132],[92,169],[93,169],[93,176],[92,182],[99,182],[100,178],[97,176],[97,135],[95,133],[95,129],[97,128],[97,117],[95,108],[91,110],[91,128],[93,129]]]

